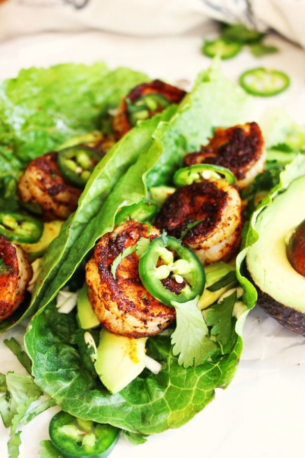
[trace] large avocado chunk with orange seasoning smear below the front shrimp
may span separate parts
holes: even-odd
[[[146,337],[133,339],[100,332],[95,368],[105,387],[117,393],[134,380],[145,367]]]

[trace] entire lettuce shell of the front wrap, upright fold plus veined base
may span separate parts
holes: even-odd
[[[159,433],[189,421],[214,398],[215,388],[225,388],[232,380],[242,350],[240,334],[247,307],[234,318],[234,302],[221,314],[214,310],[214,324],[224,326],[226,345],[197,367],[178,364],[169,336],[148,339],[147,354],[160,361],[163,369],[158,375],[144,369],[126,388],[111,394],[84,364],[75,345],[75,312],[59,314],[54,298],[95,242],[112,231],[119,208],[140,202],[147,187],[168,183],[184,155],[206,142],[215,127],[249,121],[250,104],[249,97],[217,68],[202,72],[178,107],[139,122],[96,167],[78,210],[45,256],[31,305],[39,310],[24,339],[36,383],[63,410],[134,433]]]

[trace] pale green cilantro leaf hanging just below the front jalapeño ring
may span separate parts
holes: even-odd
[[[179,354],[178,363],[185,368],[202,364],[217,348],[207,337],[208,328],[197,307],[198,300],[199,296],[184,303],[171,301],[176,309],[176,329],[171,335],[173,355]]]

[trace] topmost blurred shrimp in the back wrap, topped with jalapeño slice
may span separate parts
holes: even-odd
[[[156,99],[154,106],[150,103],[145,103],[144,98],[149,95],[159,95],[161,99]],[[118,107],[118,113],[113,118],[113,128],[116,138],[119,140],[123,135],[125,135],[135,123],[131,120],[131,113],[129,110],[129,105],[141,106],[144,108],[141,109],[141,114],[144,115],[144,118],[147,119],[153,117],[156,113],[162,111],[167,105],[172,103],[179,103],[186,92],[182,89],[176,88],[170,84],[167,84],[159,79],[155,79],[149,83],[139,84],[133,88],[130,93],[124,97]]]

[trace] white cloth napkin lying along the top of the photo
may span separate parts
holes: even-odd
[[[0,39],[90,28],[173,35],[208,17],[263,31],[271,27],[305,47],[305,0],[0,0]]]

